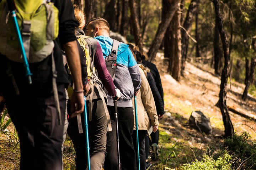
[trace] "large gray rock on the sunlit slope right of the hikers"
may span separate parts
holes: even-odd
[[[192,112],[188,124],[202,133],[210,134],[212,132],[210,118],[205,116],[201,111]]]

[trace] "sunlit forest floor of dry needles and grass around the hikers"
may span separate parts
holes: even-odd
[[[156,61],[158,61],[156,63]],[[175,81],[167,74],[167,64],[158,53],[154,61],[161,74],[164,88],[166,114],[160,119],[159,160],[153,162],[150,169],[160,170],[168,166],[178,168],[202,158],[203,153],[218,150],[223,145],[224,126],[222,114],[215,104],[218,102],[220,77],[214,70],[201,62],[186,63],[185,76]],[[241,100],[243,84],[231,81],[228,84],[227,104],[243,114],[256,115],[256,98],[248,96],[246,102]],[[192,111],[201,111],[210,118],[212,134],[206,135],[188,125]],[[229,112],[235,132],[248,132],[256,139],[256,122]],[[12,124],[7,127],[9,132],[0,133],[0,170],[18,170],[19,146],[18,138]],[[162,152],[161,152],[162,151]],[[75,169],[75,152],[70,138],[64,143],[64,169]],[[168,159],[166,159],[168,158]]]

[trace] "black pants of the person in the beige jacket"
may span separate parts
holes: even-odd
[[[139,136],[139,154],[140,154],[140,169],[146,169],[146,154],[145,154],[145,137],[148,134],[146,130],[138,130]],[[136,152],[136,163],[138,170],[138,153],[137,153],[137,140],[136,140],[136,130],[133,131],[133,146]]]

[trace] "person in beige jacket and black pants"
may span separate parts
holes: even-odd
[[[139,64],[140,74],[142,78],[142,85],[137,93],[137,114],[138,114],[138,136],[139,136],[139,154],[140,154],[140,169],[146,168],[146,155],[145,155],[145,137],[149,135],[149,129],[153,126],[153,132],[158,130],[158,115],[156,114],[156,106],[151,92],[148,80],[146,79],[146,68]],[[134,100],[133,107],[134,107]],[[135,113],[134,113],[135,117]],[[134,150],[137,152],[137,141],[135,131],[135,119],[133,127],[133,143]],[[137,156],[137,154],[136,154]],[[136,159],[138,160],[138,158]]]

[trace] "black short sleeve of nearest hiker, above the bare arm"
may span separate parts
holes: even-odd
[[[76,40],[75,27],[78,27],[79,24],[75,19],[72,2],[70,0],[53,0],[52,2],[59,10],[58,38],[60,44]]]

